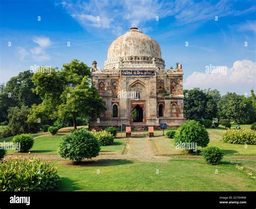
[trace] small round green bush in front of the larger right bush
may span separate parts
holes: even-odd
[[[207,164],[217,165],[221,161],[224,156],[224,151],[218,147],[210,146],[203,149],[201,152],[203,158],[205,159]]]

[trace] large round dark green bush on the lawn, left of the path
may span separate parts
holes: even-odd
[[[64,136],[58,148],[60,157],[69,158],[71,161],[77,162],[85,158],[97,157],[99,151],[100,142],[95,135],[85,129],[79,129]]]

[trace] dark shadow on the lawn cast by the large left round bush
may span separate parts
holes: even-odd
[[[89,167],[98,167],[98,166],[113,166],[113,165],[125,165],[132,164],[132,161],[126,159],[98,159],[96,161],[82,161],[82,162],[73,162],[72,165],[76,166],[89,166]]]

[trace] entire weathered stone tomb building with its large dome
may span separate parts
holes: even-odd
[[[185,120],[181,64],[165,69],[159,44],[137,27],[112,42],[104,69],[92,62],[92,83],[106,110],[90,121],[90,129],[172,127]]]

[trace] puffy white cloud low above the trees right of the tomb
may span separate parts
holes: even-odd
[[[235,61],[225,73],[194,72],[184,82],[184,89],[199,87],[201,89],[218,89],[221,94],[237,92],[250,94],[256,88],[256,62],[251,60]]]

